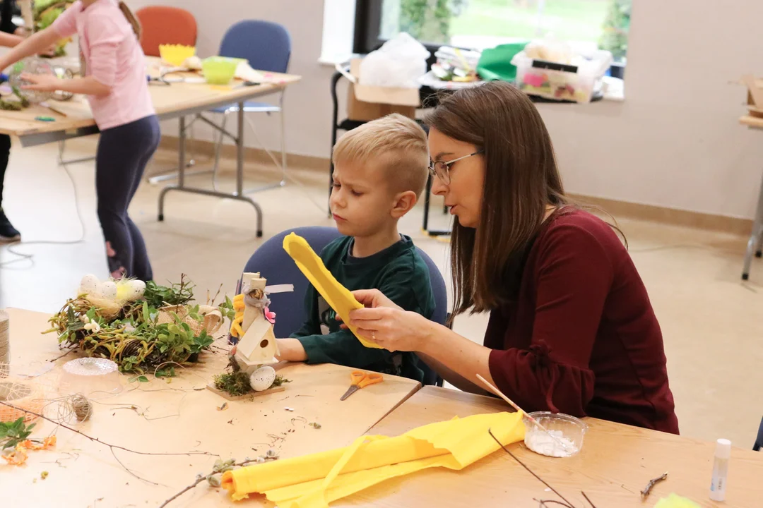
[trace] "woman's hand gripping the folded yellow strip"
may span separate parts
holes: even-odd
[[[417,351],[431,337],[432,321],[416,312],[407,312],[395,305],[377,289],[353,292],[366,308],[349,313],[349,324],[364,339],[378,343],[389,351]]]

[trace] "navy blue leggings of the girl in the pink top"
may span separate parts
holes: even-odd
[[[95,155],[95,193],[108,270],[115,278],[153,280],[146,243],[137,225],[127,216],[127,206],[146,164],[159,146],[159,136],[156,116],[101,131]]]

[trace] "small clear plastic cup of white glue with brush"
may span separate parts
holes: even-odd
[[[536,411],[530,413],[530,416],[549,431],[543,431],[529,418],[523,417],[525,446],[533,452],[548,457],[571,457],[578,455],[583,448],[583,437],[588,431],[588,425],[582,420],[549,411]]]

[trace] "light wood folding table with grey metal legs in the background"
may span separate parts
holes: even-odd
[[[158,59],[149,58],[149,75],[157,76],[160,73]],[[152,84],[149,86],[153,105],[160,120],[179,118],[179,150],[178,150],[178,184],[165,187],[159,194],[159,221],[164,220],[164,199],[170,191],[215,196],[250,203],[257,212],[257,236],[262,236],[262,209],[252,198],[246,196],[243,189],[243,164],[244,164],[244,113],[243,104],[255,97],[284,91],[301,79],[297,75],[285,75],[267,73],[266,83],[253,86],[243,86],[240,80],[234,80],[229,86],[195,84],[185,82],[172,82],[170,85]],[[22,146],[35,146],[49,142],[65,141],[80,136],[89,136],[98,133],[98,127],[92,117],[89,105],[84,97],[75,97],[72,101],[48,101],[56,110],[65,115],[56,113],[40,105],[29,107],[22,111],[0,111],[0,134],[16,136],[21,140]],[[227,133],[227,136],[236,142],[237,166],[236,166],[236,190],[233,193],[222,193],[217,190],[207,190],[197,187],[188,187],[185,184],[185,117],[214,109],[216,107],[238,104],[237,134]],[[34,120],[36,117],[53,117],[54,122],[41,122]],[[60,159],[60,163],[66,163]]]

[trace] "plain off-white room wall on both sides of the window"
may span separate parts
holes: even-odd
[[[130,0],[187,8],[199,23],[198,53],[216,52],[226,28],[245,18],[291,32],[287,93],[289,152],[327,157],[330,67],[320,65],[323,2],[316,0]],[[760,0],[637,0],[626,101],[542,104],[569,191],[614,200],[752,217],[763,170],[763,131],[737,123],[745,91],[729,81],[763,75]],[[344,93],[340,92],[340,101]],[[259,132],[277,145],[276,123]],[[174,125],[174,124],[173,124]],[[166,133],[170,133],[167,126]],[[251,138],[250,138],[251,140]]]

